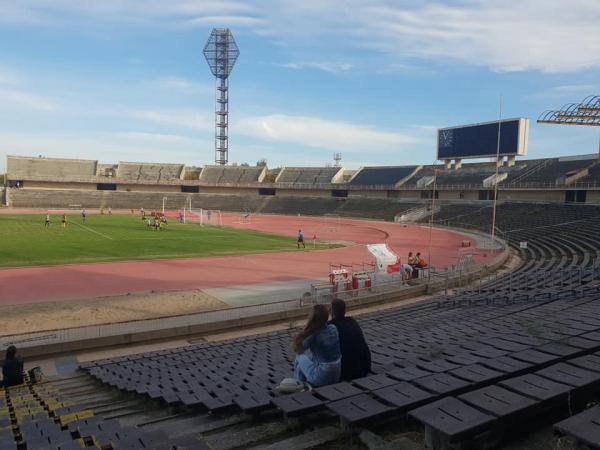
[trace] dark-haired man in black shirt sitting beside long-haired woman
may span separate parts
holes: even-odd
[[[346,303],[343,300],[335,299],[331,302],[331,317],[329,323],[336,326],[340,337],[340,379],[350,381],[366,377],[371,371],[371,351],[356,320],[346,317]]]

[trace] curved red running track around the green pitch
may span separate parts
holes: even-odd
[[[94,298],[129,292],[207,289],[291,280],[326,279],[330,264],[373,262],[364,244],[387,243],[403,260],[408,251],[428,254],[429,228],[416,225],[295,216],[252,216],[240,223],[239,214],[224,214],[227,226],[290,236],[290,251],[247,256],[73,264],[0,270],[0,305]],[[298,229],[307,245],[318,240],[351,242],[347,247],[304,252],[297,250]],[[432,231],[432,265],[455,264],[464,235]],[[475,252],[477,261],[491,259]]]

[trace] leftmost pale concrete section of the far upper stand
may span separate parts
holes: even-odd
[[[98,161],[83,159],[29,158],[8,156],[6,171],[11,180],[47,178],[49,180],[91,178]]]

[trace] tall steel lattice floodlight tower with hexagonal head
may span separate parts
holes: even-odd
[[[216,79],[215,164],[225,165],[229,157],[229,74],[240,50],[229,28],[213,28],[203,53]]]

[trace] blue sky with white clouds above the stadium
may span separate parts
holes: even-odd
[[[600,94],[597,0],[0,0],[6,154],[214,161],[202,55],[229,27],[230,162],[432,163],[436,129],[529,117],[529,157],[593,153],[597,128],[537,125]]]

